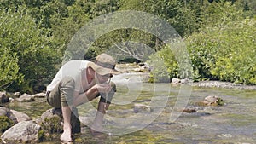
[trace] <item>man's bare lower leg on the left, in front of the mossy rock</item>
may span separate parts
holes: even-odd
[[[72,141],[71,138],[71,123],[70,123],[70,118],[71,118],[71,110],[72,107],[61,107],[62,109],[62,115],[64,119],[64,124],[63,124],[63,133],[61,135],[61,140],[64,141]]]

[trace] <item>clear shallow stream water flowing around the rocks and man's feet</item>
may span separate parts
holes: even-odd
[[[126,79],[130,82],[132,80]],[[91,135],[90,128],[83,125],[82,133],[74,135],[76,143],[256,143],[256,90],[193,87],[188,107],[197,107],[195,102],[202,101],[207,95],[220,96],[225,105],[197,107],[197,112],[183,113],[176,121],[170,122],[170,113],[177,101],[180,87],[137,83],[140,81],[135,78],[132,80],[134,83],[128,86],[126,83],[122,84],[122,81],[117,82],[119,91],[104,121],[105,128],[111,134]],[[97,100],[79,107],[79,115],[93,115],[91,108],[95,109],[96,103]],[[135,103],[152,106],[154,112],[136,114],[133,112]],[[44,99],[11,103],[8,107],[25,112],[32,118],[39,118],[51,108]],[[127,124],[129,118],[137,119],[137,123]],[[154,120],[151,122],[148,118]],[[122,127],[122,124],[127,125]],[[120,135],[115,133],[117,131]],[[41,143],[58,142],[56,138]]]

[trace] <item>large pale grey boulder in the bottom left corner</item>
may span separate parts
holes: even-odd
[[[3,143],[35,143],[38,141],[39,130],[39,124],[36,124],[33,121],[23,121],[15,124],[9,130],[6,130],[1,136],[1,139]]]

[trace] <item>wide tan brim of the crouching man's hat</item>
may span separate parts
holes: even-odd
[[[106,75],[106,74],[118,75],[120,73],[127,72],[127,71],[117,71],[116,69],[110,69],[110,68],[98,66],[93,62],[89,62],[88,66],[90,66],[96,73],[100,75]]]

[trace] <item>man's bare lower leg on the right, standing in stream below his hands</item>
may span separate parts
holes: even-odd
[[[106,114],[106,110],[108,110],[109,104],[106,104],[105,102],[99,102],[98,104],[98,110],[96,112],[96,118],[94,120],[94,123],[91,126],[91,130],[94,131],[103,131],[102,122],[104,115]]]

